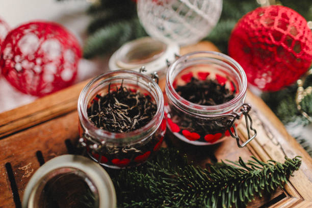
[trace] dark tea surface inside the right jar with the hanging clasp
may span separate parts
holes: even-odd
[[[177,86],[175,91],[184,99],[202,106],[220,105],[235,97],[235,93],[217,80],[198,80],[195,77],[186,85]]]

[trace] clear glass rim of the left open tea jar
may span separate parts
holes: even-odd
[[[148,84],[148,86],[152,87],[155,90],[155,96],[154,99],[157,102],[157,111],[153,118],[145,124],[143,127],[136,129],[135,131],[127,132],[127,133],[114,133],[106,131],[105,129],[100,129],[94,124],[91,123],[91,121],[88,119],[87,115],[87,105],[88,101],[85,102],[85,99],[87,98],[87,93],[89,89],[94,86],[97,82],[103,79],[103,77],[114,77],[116,74],[132,74],[137,77],[140,77],[144,82]],[[127,79],[126,77],[123,78],[123,80]],[[153,95],[152,95],[153,96]],[[158,100],[158,101],[157,101]],[[80,122],[83,125],[83,127],[86,129],[86,131],[90,134],[90,136],[94,136],[96,139],[103,139],[109,142],[123,142],[125,139],[130,139],[130,141],[136,141],[141,140],[140,137],[142,134],[144,134],[145,137],[151,136],[160,126],[161,121],[164,117],[164,97],[162,90],[158,86],[157,83],[155,83],[151,77],[136,72],[133,70],[126,70],[126,69],[119,69],[115,71],[109,71],[107,73],[100,74],[96,77],[94,77],[81,91],[79,99],[78,99],[78,106],[77,106],[78,112],[79,112],[79,118]],[[152,131],[148,131],[150,129],[153,129]],[[148,135],[145,135],[146,133],[149,133]]]

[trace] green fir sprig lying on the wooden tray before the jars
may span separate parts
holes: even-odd
[[[118,207],[245,207],[255,195],[287,183],[301,165],[300,157],[284,163],[221,162],[202,169],[178,150],[161,149],[145,165],[111,172]]]

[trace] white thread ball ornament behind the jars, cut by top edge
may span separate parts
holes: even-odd
[[[138,0],[139,19],[146,32],[180,45],[198,42],[215,27],[222,0]]]

